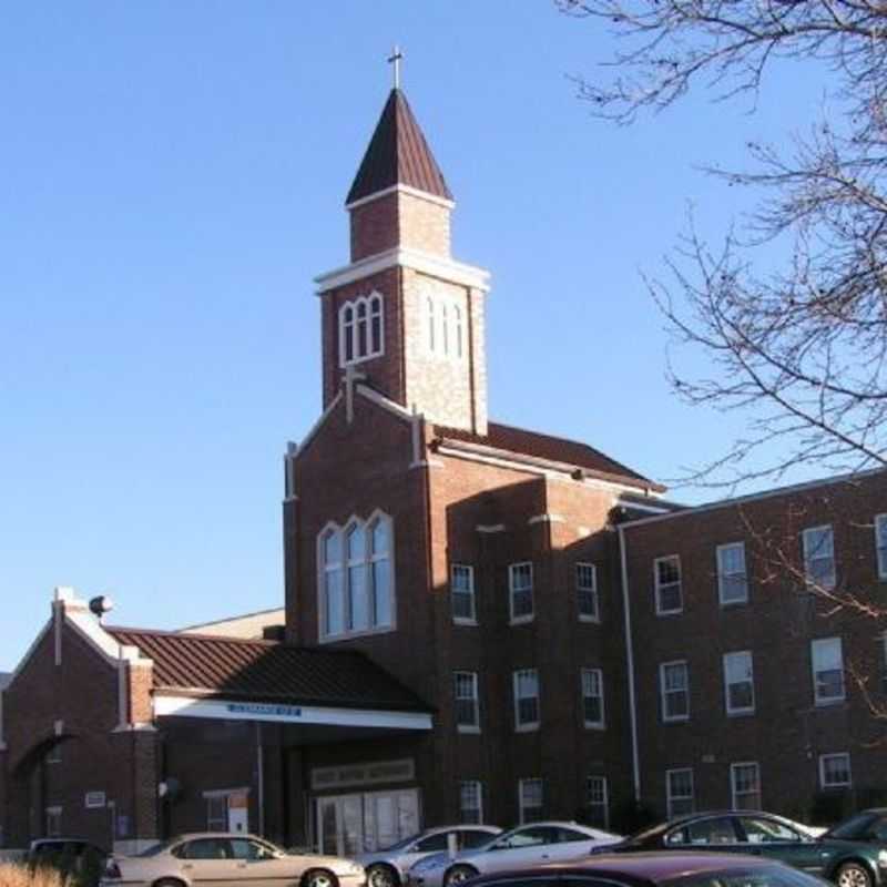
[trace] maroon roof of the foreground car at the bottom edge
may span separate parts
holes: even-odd
[[[733,853],[707,853],[690,850],[659,850],[635,854],[601,854],[571,863],[548,863],[532,868],[510,869],[495,875],[485,875],[473,884],[492,881],[502,877],[539,876],[549,874],[594,874],[601,877],[629,877],[639,880],[659,881],[667,878],[700,875],[724,869],[785,868],[783,863],[756,856],[738,856]]]

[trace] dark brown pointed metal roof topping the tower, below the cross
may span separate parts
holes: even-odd
[[[406,95],[394,89],[345,203],[354,203],[398,184],[452,200]]]

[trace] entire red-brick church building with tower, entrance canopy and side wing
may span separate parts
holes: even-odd
[[[878,797],[885,636],[812,589],[887,603],[887,476],[681,508],[490,420],[489,274],[451,255],[399,89],[346,210],[323,415],[285,456],[285,626],[112,628],[57,590],[0,695],[2,843],[224,828],[350,855],[458,820]]]

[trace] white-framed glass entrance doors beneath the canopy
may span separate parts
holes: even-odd
[[[419,789],[360,792],[316,799],[317,849],[356,856],[390,847],[420,828]]]

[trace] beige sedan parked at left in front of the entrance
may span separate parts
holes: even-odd
[[[181,835],[139,856],[114,856],[103,887],[363,887],[364,867],[336,856],[290,856],[263,838],[236,834]]]

